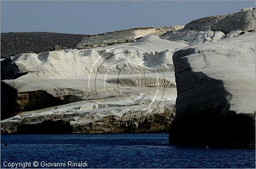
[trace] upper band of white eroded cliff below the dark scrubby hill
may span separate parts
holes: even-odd
[[[127,43],[124,47],[119,46],[120,44],[111,46],[113,49],[68,49],[39,54],[15,55],[1,61],[1,68],[3,69],[1,79],[15,79],[25,74],[34,78],[64,78],[81,74],[88,75],[94,64],[92,72],[103,74],[118,63],[139,65],[141,62],[145,62],[145,67],[149,69],[155,69],[159,66],[163,69],[173,69],[173,51],[187,45],[182,42],[162,40],[158,36],[150,35],[134,43]],[[118,73],[120,64],[112,68],[110,72]],[[143,65],[138,69],[144,71]],[[129,69],[126,73],[138,73],[138,70]]]

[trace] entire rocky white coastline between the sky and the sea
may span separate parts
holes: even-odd
[[[1,44],[3,58],[18,52],[1,60],[1,133],[169,132],[171,144],[255,148],[255,9],[63,36],[54,51]]]

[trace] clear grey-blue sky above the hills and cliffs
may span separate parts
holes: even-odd
[[[1,1],[1,32],[99,34],[186,24],[239,12],[255,1]]]

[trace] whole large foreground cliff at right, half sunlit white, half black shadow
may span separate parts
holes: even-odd
[[[173,61],[170,143],[255,147],[255,33],[183,48]]]

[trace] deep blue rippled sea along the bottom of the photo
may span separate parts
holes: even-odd
[[[68,161],[88,168],[255,168],[255,150],[177,147],[167,133],[1,135],[1,168],[15,162],[32,168],[34,161],[61,168]]]

